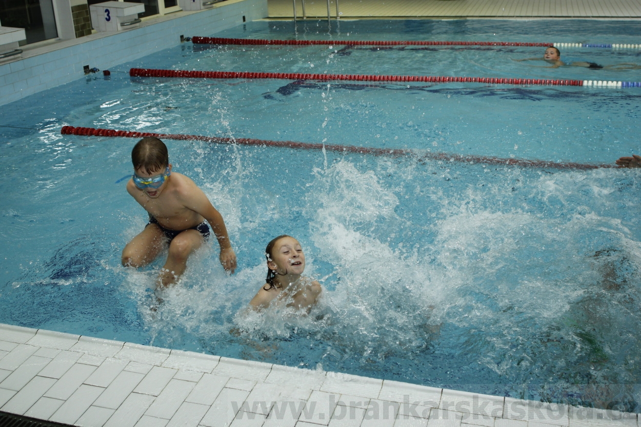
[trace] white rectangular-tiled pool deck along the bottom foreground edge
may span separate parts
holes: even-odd
[[[637,414],[7,324],[0,411],[86,427],[639,427]]]

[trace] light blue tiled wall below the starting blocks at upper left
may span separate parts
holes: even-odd
[[[176,12],[119,33],[94,33],[38,47],[0,65],[0,105],[6,105],[85,75],[180,44],[180,36],[210,35],[267,17],[267,0],[228,0],[199,12]]]

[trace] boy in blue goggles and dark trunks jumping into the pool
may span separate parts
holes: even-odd
[[[134,174],[127,191],[149,213],[149,224],[122,250],[122,265],[149,264],[169,242],[167,262],[158,275],[158,286],[178,281],[188,256],[202,246],[212,226],[221,247],[222,267],[232,273],[236,254],[231,248],[225,222],[194,181],[172,172],[167,146],[158,138],[145,137],[131,151]]]

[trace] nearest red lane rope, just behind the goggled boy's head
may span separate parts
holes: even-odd
[[[418,161],[424,160],[441,160],[443,162],[461,162],[461,163],[482,163],[485,165],[508,165],[520,167],[534,167],[541,169],[601,169],[615,168],[616,165],[591,165],[588,163],[566,163],[566,162],[547,162],[545,160],[527,160],[519,158],[500,158],[490,156],[462,156],[452,153],[433,153],[431,151],[417,151],[413,149],[388,149],[378,147],[357,147],[344,146],[336,144],[313,144],[310,142],[296,141],[272,141],[254,138],[225,138],[225,137],[203,137],[199,135],[184,135],[171,133],[153,133],[153,132],[136,132],[122,131],[113,129],[96,129],[96,128],[76,128],[74,126],[63,126],[60,130],[62,135],[83,135],[93,137],[124,137],[124,138],[144,138],[156,137],[172,140],[194,140],[210,142],[212,144],[238,144],[240,146],[258,146],[258,147],[282,147],[292,149],[309,149],[309,150],[326,150],[336,151],[338,153],[354,153],[373,156],[388,157],[412,157]]]

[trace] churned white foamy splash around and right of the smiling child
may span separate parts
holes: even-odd
[[[234,190],[242,196],[232,191],[229,197],[222,180],[201,175],[214,205],[232,212],[226,213],[231,232],[260,230],[285,215],[273,195],[251,185],[251,156],[231,155],[238,160],[229,159],[229,171],[242,162],[243,183]],[[322,360],[356,358],[363,369],[390,357],[420,360],[439,349],[512,383],[560,376],[571,383],[585,372],[595,381],[637,381],[633,369],[607,369],[610,360],[631,362],[610,351],[620,340],[610,328],[632,333],[641,301],[638,283],[630,283],[641,246],[622,219],[608,214],[608,206],[621,203],[616,172],[504,169],[486,178],[479,167],[478,183],[460,181],[451,197],[442,183],[464,171],[448,167],[381,159],[372,168],[335,160],[314,169],[305,199],[284,206],[304,205],[306,244],[313,245],[304,247],[306,275],[325,287],[319,306],[309,315],[278,307],[247,310],[266,266],[258,260],[226,276],[213,242],[190,259],[179,284],[146,317],[154,342],[178,346],[190,336],[204,351],[240,346],[249,349],[248,357],[271,360],[285,342],[308,336],[322,343]],[[433,222],[399,215],[404,193],[388,176],[411,180],[416,192],[428,194],[433,206],[424,213],[437,212]],[[242,210],[256,219],[241,223],[233,212]],[[403,228],[414,231],[415,242],[393,237]],[[296,237],[296,230],[290,233]],[[326,277],[317,276],[316,260],[329,264]],[[149,281],[149,274],[136,277]],[[641,342],[631,337],[629,346],[637,351]]]

